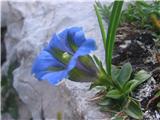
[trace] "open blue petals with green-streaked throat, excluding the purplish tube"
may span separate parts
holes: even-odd
[[[65,29],[53,35],[50,43],[40,52],[33,63],[32,73],[38,80],[57,84],[68,77],[80,56],[88,55],[93,50],[96,50],[95,42],[85,38],[82,28]]]

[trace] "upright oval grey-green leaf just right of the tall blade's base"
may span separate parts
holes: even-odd
[[[117,78],[118,82],[123,86],[129,79],[132,73],[132,66],[130,63],[123,65]]]

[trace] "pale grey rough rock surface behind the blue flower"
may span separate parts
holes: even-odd
[[[20,65],[14,71],[14,87],[26,104],[34,120],[54,120],[61,113],[65,120],[109,119],[98,107],[88,102],[95,91],[88,91],[90,83],[66,80],[60,86],[38,81],[31,75],[32,61],[53,33],[70,26],[82,26],[87,36],[95,38],[103,59],[100,31],[93,8],[89,2],[2,2],[2,24],[7,26],[5,36],[7,62]],[[3,9],[2,9],[3,10]]]

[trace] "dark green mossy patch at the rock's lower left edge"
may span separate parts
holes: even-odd
[[[13,88],[13,70],[18,67],[18,62],[14,61],[9,65],[6,75],[2,75],[1,80],[1,97],[2,102],[1,113],[9,113],[14,119],[18,119],[18,95]]]

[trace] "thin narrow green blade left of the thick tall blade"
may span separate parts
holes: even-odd
[[[103,45],[104,45],[104,48],[106,49],[106,46],[105,46],[105,44],[106,44],[106,30],[105,30],[105,28],[103,26],[102,18],[101,18],[100,14],[99,14],[97,5],[94,5],[94,8],[95,8],[95,11],[96,11],[99,27],[100,27],[100,30],[101,30],[101,35],[102,35],[102,39],[103,39]]]

